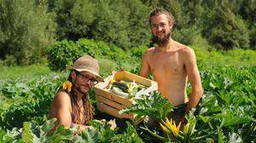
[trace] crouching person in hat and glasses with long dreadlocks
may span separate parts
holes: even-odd
[[[77,129],[78,126],[79,131],[90,129],[86,124],[93,118],[94,107],[88,93],[92,86],[103,81],[99,76],[98,62],[89,55],[84,55],[67,68],[70,75],[67,82],[63,83],[63,88],[55,94],[49,117],[57,118],[57,122],[66,129]]]

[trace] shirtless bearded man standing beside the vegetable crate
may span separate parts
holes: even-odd
[[[153,72],[160,93],[177,106],[177,113],[172,117],[183,121],[184,114],[197,106],[203,94],[195,53],[193,49],[172,39],[174,18],[166,9],[154,9],[149,23],[153,41],[158,46],[148,49],[143,55],[139,74],[148,77]],[[188,78],[192,86],[189,98],[186,94]]]

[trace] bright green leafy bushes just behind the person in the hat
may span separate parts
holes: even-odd
[[[128,57],[124,50],[113,44],[84,38],[79,39],[76,43],[67,40],[56,42],[49,48],[47,54],[49,68],[54,71],[64,70],[66,65],[72,65],[73,61],[84,54],[89,54],[96,59],[114,60],[118,66]]]

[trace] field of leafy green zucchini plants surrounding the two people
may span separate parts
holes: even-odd
[[[137,69],[131,72],[137,73]],[[200,66],[204,89],[200,106],[189,113],[183,127],[166,119],[173,106],[160,94],[150,93],[122,112],[137,113],[138,117],[151,115],[159,121],[159,127],[148,129],[143,123],[133,125],[107,115],[107,120],[102,120],[103,114],[96,112],[96,119],[90,123],[94,129],[77,135],[64,127],[48,134],[55,123],[55,119],[48,120],[49,104],[67,73],[0,80],[0,142],[255,142],[256,66],[207,69]],[[92,91],[90,99],[96,107]]]

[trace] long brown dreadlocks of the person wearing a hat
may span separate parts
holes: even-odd
[[[69,77],[67,78],[67,80],[71,83],[73,83],[73,79],[71,77],[71,74],[69,75]],[[83,97],[82,97],[82,100],[83,100],[83,106],[84,106],[84,113],[81,112],[80,110],[80,107],[78,102],[77,102],[77,98],[76,98],[76,95],[74,94],[74,84],[72,86],[72,89],[70,91],[70,93],[67,93],[69,94],[70,98],[71,98],[71,106],[72,106],[72,122],[74,123],[78,123],[78,124],[86,124],[88,123],[90,120],[93,119],[93,116],[94,116],[94,107],[91,105],[90,103],[90,97],[89,97],[89,94],[84,94]],[[81,120],[80,119],[80,113],[83,113],[84,114],[84,119]]]

